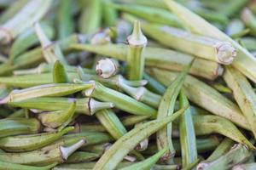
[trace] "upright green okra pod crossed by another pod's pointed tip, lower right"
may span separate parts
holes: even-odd
[[[181,89],[179,94],[179,105],[183,108],[185,105],[189,105],[189,100]],[[197,148],[195,143],[195,128],[192,120],[190,108],[188,108],[184,115],[179,118],[179,132],[180,142],[182,150],[182,165],[183,167],[189,166],[197,159]]]

